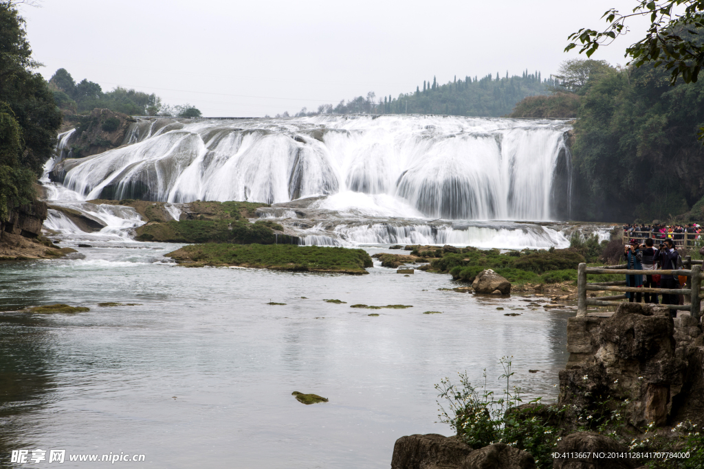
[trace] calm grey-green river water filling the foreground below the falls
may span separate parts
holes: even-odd
[[[526,303],[438,290],[456,286],[448,275],[186,269],[163,262],[179,245],[90,243],[85,259],[0,264],[0,310],[91,309],[0,313],[0,466],[99,467],[68,455],[123,452],[146,463],[115,467],[388,468],[398,437],[451,435],[435,423],[441,378],[466,370],[479,383],[487,368],[499,390],[498,359],[513,355],[514,383],[554,398],[567,360],[572,314],[504,316]],[[12,465],[13,449],[67,456]]]

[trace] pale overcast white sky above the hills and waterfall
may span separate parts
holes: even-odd
[[[263,116],[366,96],[398,96],[508,70],[555,73],[580,27],[636,0],[45,0],[22,6],[46,79],[65,68],[103,91],[125,86],[204,116]],[[624,64],[647,22],[592,58]]]

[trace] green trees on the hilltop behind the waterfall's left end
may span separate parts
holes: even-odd
[[[56,105],[65,113],[86,114],[95,108],[109,109],[127,115],[163,115],[172,117],[201,117],[201,111],[190,104],[170,106],[155,94],[115,87],[103,92],[101,86],[88,79],[76,83],[65,69],[56,70],[49,80]]]

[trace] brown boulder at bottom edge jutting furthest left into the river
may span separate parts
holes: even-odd
[[[459,437],[408,435],[396,440],[391,469],[456,469],[471,452]]]

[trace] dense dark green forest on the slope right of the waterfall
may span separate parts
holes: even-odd
[[[702,220],[704,82],[670,86],[670,72],[609,68],[590,81],[574,124],[582,219]]]

